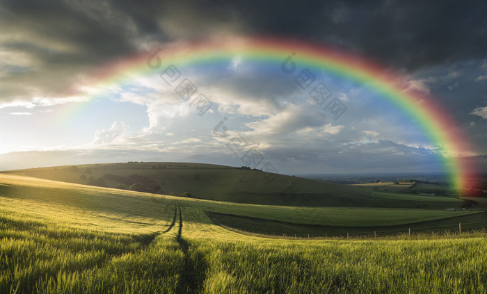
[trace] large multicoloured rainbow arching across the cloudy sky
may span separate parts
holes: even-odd
[[[419,90],[410,89],[404,76],[395,74],[372,60],[343,50],[279,38],[234,37],[174,42],[162,44],[153,51],[114,60],[92,75],[90,85],[104,88],[125,83],[127,73],[132,76],[160,74],[171,64],[177,67],[205,65],[232,60],[236,56],[281,66],[282,61],[293,52],[295,54],[292,60],[300,67],[330,72],[365,85],[404,111],[422,127],[433,145],[442,146],[439,156],[457,193],[468,193],[475,168],[465,158],[472,154],[472,149],[452,115],[449,115],[437,99]]]

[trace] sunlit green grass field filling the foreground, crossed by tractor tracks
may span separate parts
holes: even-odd
[[[216,202],[17,180],[0,190],[0,293],[487,292],[485,232],[260,238],[214,224]]]

